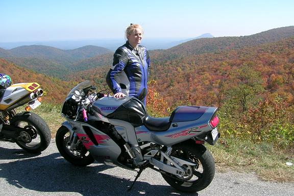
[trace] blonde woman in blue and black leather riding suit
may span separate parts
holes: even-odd
[[[126,44],[117,48],[106,82],[114,97],[134,96],[146,104],[149,53],[141,43],[143,35],[139,24],[130,24],[126,29]]]

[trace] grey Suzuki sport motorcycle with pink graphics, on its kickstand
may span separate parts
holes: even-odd
[[[66,121],[56,134],[67,161],[86,166],[96,160],[137,171],[130,188],[146,167],[180,191],[210,184],[214,159],[203,144],[219,138],[217,108],[180,106],[169,117],[154,118],[138,99],[102,92],[84,81],[68,93],[61,111]]]

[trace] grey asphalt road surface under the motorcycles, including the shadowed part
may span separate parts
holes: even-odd
[[[264,182],[254,174],[217,172],[206,189],[187,194],[170,187],[152,169],[145,169],[128,191],[135,175],[98,163],[75,167],[60,156],[54,140],[39,155],[0,142],[1,195],[294,195],[294,184]]]

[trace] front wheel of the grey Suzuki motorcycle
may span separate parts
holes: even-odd
[[[56,133],[55,141],[59,153],[65,160],[77,166],[87,166],[95,161],[82,143],[80,143],[81,145],[78,147],[78,151],[71,152],[69,150],[70,144],[67,142],[68,138],[69,130],[61,126]]]

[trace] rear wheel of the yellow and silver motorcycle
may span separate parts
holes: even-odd
[[[40,153],[44,151],[51,141],[51,132],[46,122],[37,114],[32,112],[21,112],[14,115],[10,125],[30,128],[31,134],[24,133],[29,137],[29,143],[16,140],[16,144],[29,153]],[[33,132],[33,133],[32,133]],[[29,136],[30,135],[30,136]]]

